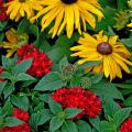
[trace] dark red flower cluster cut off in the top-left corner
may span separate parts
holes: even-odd
[[[0,0],[0,21],[6,21],[8,19],[7,8],[3,6],[3,0]]]

